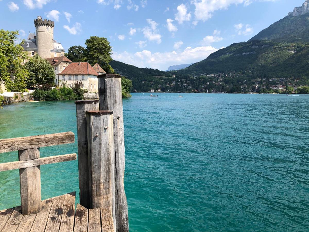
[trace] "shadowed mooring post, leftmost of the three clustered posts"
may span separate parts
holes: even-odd
[[[77,117],[79,204],[90,208],[86,111],[99,110],[99,100],[75,101]]]

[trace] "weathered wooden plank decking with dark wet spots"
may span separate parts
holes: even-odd
[[[20,206],[1,210],[0,231],[112,232],[115,231],[115,228],[112,221],[111,208],[88,210],[77,204],[75,212],[75,192],[71,192],[43,200],[42,210],[37,214],[22,215]]]

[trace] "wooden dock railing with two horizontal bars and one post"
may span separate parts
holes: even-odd
[[[41,211],[40,165],[76,160],[76,154],[40,158],[40,148],[74,143],[74,133],[65,132],[0,140],[0,153],[18,150],[18,160],[0,164],[0,171],[19,169],[23,215]]]

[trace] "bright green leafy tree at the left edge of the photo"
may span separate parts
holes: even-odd
[[[27,53],[20,44],[15,44],[18,35],[18,31],[0,29],[0,83],[11,92],[23,92],[28,78],[22,65]]]

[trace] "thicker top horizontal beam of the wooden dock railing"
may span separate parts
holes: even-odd
[[[64,132],[0,140],[0,153],[74,143],[74,133]]]

